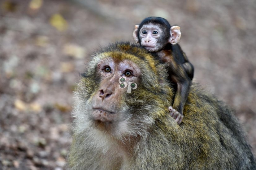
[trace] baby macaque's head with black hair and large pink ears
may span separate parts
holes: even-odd
[[[172,26],[161,17],[147,17],[133,31],[134,40],[150,52],[158,52],[168,43],[176,44],[181,37],[180,27]]]

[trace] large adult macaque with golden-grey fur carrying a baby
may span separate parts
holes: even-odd
[[[255,169],[232,111],[192,85],[183,124],[167,112],[165,64],[139,45],[96,53],[75,92],[70,169]],[[120,82],[134,82],[131,93]]]

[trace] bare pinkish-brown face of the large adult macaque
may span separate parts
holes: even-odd
[[[126,111],[126,104],[123,101],[127,96],[125,94],[127,86],[131,86],[128,82],[139,84],[138,77],[141,76],[141,70],[134,62],[127,59],[117,61],[112,57],[106,57],[98,63],[96,72],[101,82],[92,96],[92,117],[97,123],[116,121],[120,118],[120,112]],[[125,84],[121,85],[120,79]]]

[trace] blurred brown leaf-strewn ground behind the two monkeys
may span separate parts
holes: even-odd
[[[63,168],[79,73],[148,16],[180,26],[193,81],[236,110],[255,155],[255,0],[0,0],[0,169]]]

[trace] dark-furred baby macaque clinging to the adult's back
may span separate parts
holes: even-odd
[[[171,27],[169,22],[161,17],[145,18],[139,25],[135,25],[133,31],[136,43],[150,52],[157,52],[158,59],[168,63],[168,79],[177,84],[174,102],[169,106],[169,111],[178,124],[183,119],[184,104],[194,75],[193,65],[177,44],[180,36],[180,27]]]

